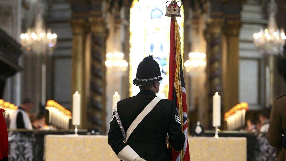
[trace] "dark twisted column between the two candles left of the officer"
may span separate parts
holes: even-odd
[[[105,132],[106,25],[101,17],[90,17],[88,21],[91,25],[91,104],[88,106],[88,127],[97,127]]]

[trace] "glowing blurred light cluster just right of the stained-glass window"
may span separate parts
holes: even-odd
[[[206,65],[206,54],[202,52],[190,52],[189,60],[186,60],[184,63],[186,72],[191,72],[191,74],[195,75],[198,75],[198,72],[203,71]]]

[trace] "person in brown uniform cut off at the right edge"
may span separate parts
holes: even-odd
[[[285,144],[286,130],[286,94],[275,99],[270,114],[267,140],[271,146],[278,148],[278,161],[286,160]],[[284,137],[282,136],[284,134]]]

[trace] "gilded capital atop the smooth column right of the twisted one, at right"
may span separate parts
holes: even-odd
[[[225,23],[223,28],[224,34],[227,36],[239,36],[240,27],[241,27],[240,20],[228,20]]]

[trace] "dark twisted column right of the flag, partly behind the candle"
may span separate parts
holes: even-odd
[[[208,127],[212,129],[212,96],[215,92],[223,98],[222,91],[222,26],[224,20],[221,18],[210,18],[205,30],[205,40],[207,41],[207,67],[206,67],[206,106],[205,117]]]

